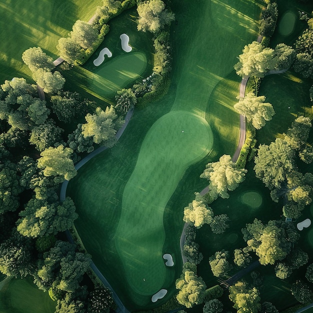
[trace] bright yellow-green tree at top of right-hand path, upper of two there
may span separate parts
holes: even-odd
[[[245,45],[239,61],[234,65],[237,75],[264,77],[265,73],[277,66],[278,57],[271,48],[265,48],[261,43],[253,41]]]

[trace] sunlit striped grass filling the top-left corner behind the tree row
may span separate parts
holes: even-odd
[[[57,41],[67,36],[77,19],[89,20],[100,0],[0,0],[0,82],[31,77],[22,52],[40,46],[57,58]]]

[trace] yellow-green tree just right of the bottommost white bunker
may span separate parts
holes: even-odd
[[[176,280],[178,303],[192,307],[194,304],[202,303],[206,285],[201,277],[196,275],[196,267],[188,262],[183,264],[182,274]]]

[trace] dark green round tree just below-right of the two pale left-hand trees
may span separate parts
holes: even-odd
[[[52,110],[58,120],[70,123],[74,118],[85,114],[85,107],[77,92],[58,92],[51,96]]]

